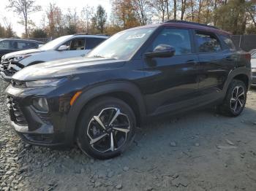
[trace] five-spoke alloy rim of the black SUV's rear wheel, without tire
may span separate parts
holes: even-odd
[[[231,99],[230,99],[230,109],[234,113],[241,112],[241,109],[244,108],[245,99],[246,99],[246,96],[245,96],[244,87],[242,86],[234,87],[232,91]]]

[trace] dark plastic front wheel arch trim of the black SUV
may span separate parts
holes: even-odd
[[[75,129],[83,109],[86,108],[89,102],[102,96],[112,96],[121,99],[131,106],[132,110],[135,112],[138,125],[145,120],[146,106],[144,104],[143,95],[140,93],[139,88],[132,82],[113,82],[97,85],[83,90],[75,103],[70,107],[67,117],[67,134],[72,134],[72,139],[75,138]]]

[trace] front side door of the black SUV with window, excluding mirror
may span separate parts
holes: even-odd
[[[198,60],[191,31],[163,28],[146,52],[153,52],[159,44],[174,47],[176,53],[170,58],[144,58],[144,92],[149,112],[161,114],[196,106]]]

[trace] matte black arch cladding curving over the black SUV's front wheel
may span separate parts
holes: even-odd
[[[143,95],[140,93],[139,88],[132,82],[110,82],[83,90],[83,93],[79,95],[75,103],[70,107],[67,114],[67,139],[70,139],[70,135],[75,135],[75,127],[78,121],[78,117],[83,107],[89,103],[93,98],[97,98],[100,95],[106,95],[108,93],[122,92],[132,95],[138,104],[140,112],[140,118],[143,121],[146,117],[146,107],[143,100]],[[72,136],[72,139],[75,137]],[[74,141],[74,140],[70,140]]]

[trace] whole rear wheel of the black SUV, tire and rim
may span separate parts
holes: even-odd
[[[221,114],[237,117],[244,110],[246,104],[246,85],[238,79],[233,79],[227,89],[222,105],[219,106]]]

